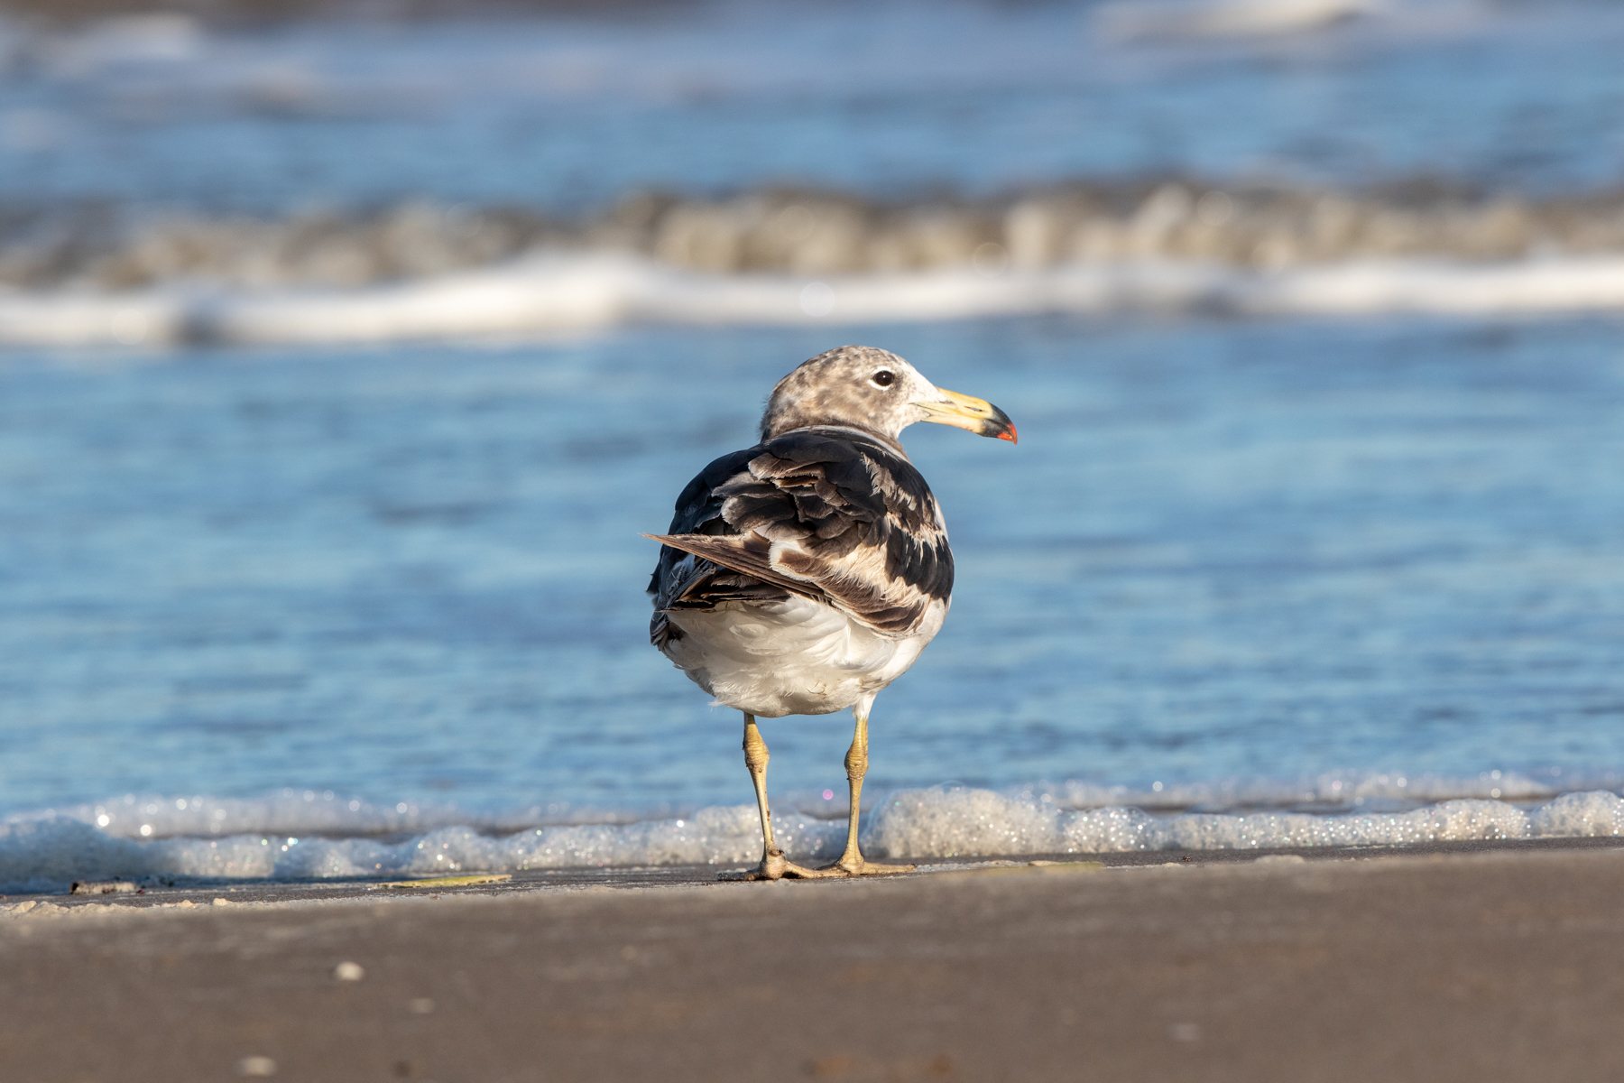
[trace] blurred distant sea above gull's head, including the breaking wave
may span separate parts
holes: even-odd
[[[0,347],[1624,310],[1605,0],[0,16]]]

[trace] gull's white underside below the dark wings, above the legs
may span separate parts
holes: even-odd
[[[942,630],[932,602],[919,630],[885,636],[806,598],[724,602],[667,614],[680,635],[661,648],[718,703],[762,718],[843,711],[908,672]]]

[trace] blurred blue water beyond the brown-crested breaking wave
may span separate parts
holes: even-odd
[[[1624,172],[1611,0],[1392,0],[1289,34],[1177,16],[1268,6],[1237,0],[607,6],[125,21],[10,50],[0,24],[0,196],[578,209],[763,183],[895,198],[1190,172],[1561,192]]]

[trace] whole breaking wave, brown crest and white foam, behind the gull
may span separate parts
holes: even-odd
[[[1624,193],[1548,201],[1186,182],[996,201],[762,192],[590,221],[403,206],[354,218],[0,219],[0,343],[343,343],[627,323],[1028,313],[1624,309]]]

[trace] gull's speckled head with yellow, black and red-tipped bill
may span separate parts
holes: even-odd
[[[919,421],[1015,442],[1015,425],[997,406],[942,390],[896,354],[874,346],[836,346],[780,380],[767,399],[762,438],[840,425],[901,448],[903,429]]]

